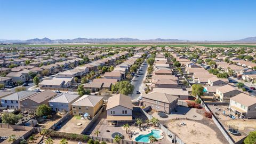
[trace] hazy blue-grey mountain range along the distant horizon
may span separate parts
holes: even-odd
[[[28,39],[25,41],[20,40],[7,40],[0,39],[0,43],[179,43],[179,42],[203,42],[203,41],[188,41],[181,39],[137,39],[137,38],[75,38],[75,39],[49,39],[47,37],[39,39]],[[204,41],[204,42],[256,42],[256,37],[247,37],[235,41]]]

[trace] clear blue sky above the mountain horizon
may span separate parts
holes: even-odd
[[[256,36],[256,1],[0,0],[0,39]]]

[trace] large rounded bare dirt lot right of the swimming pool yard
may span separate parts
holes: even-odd
[[[185,123],[185,126],[182,126],[181,123]],[[217,133],[212,130],[209,126],[206,126],[202,123],[189,120],[173,120],[167,124],[168,129],[178,135],[185,143],[190,144],[199,144],[199,143],[222,143],[218,139]]]

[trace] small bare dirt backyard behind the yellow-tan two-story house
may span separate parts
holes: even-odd
[[[82,125],[77,125],[77,123],[82,123]],[[63,125],[59,131],[81,134],[89,123],[89,120],[82,120],[74,116],[65,125]]]

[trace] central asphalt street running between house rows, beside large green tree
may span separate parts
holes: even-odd
[[[144,89],[144,85],[143,85],[143,79],[146,76],[146,71],[148,68],[148,63],[146,62],[146,65],[141,65],[142,66],[142,70],[140,71],[140,74],[138,75],[139,77],[134,77],[131,84],[134,85],[134,90],[133,93],[131,95],[132,100],[133,99],[137,99],[141,94],[137,94],[137,91],[141,92]]]

